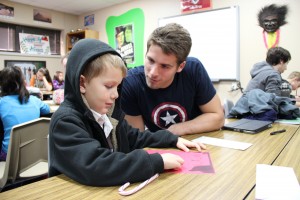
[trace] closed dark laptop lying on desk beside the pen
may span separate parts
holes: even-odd
[[[239,119],[225,124],[222,129],[254,134],[272,127],[272,123],[271,121]]]

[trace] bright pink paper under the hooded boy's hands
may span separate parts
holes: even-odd
[[[184,163],[178,170],[168,170],[173,173],[184,174],[214,174],[209,152],[184,152],[176,150],[147,150],[149,154],[153,153],[172,153],[183,158]]]

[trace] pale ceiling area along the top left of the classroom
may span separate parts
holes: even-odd
[[[34,7],[82,15],[131,0],[10,0]]]

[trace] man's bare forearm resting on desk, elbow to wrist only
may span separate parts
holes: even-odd
[[[168,128],[175,135],[187,135],[219,130],[224,125],[221,113],[205,113],[193,120],[174,124]]]

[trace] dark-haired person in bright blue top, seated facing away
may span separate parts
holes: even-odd
[[[0,87],[0,120],[4,128],[0,161],[5,161],[12,127],[48,114],[50,108],[39,98],[29,95],[18,67],[5,67],[0,72]]]

